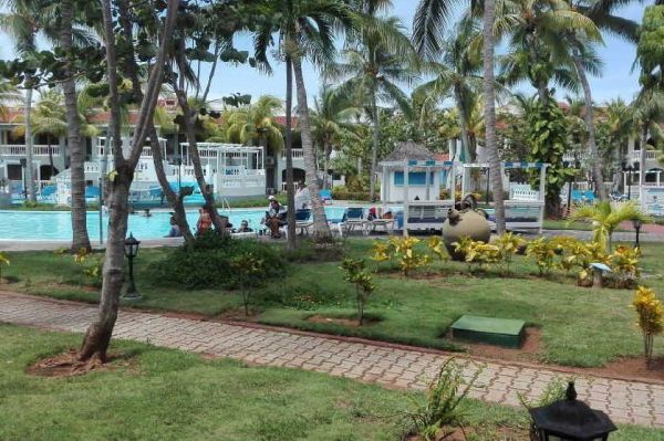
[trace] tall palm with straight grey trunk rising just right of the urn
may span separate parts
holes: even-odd
[[[427,59],[432,60],[440,53],[442,31],[452,14],[453,6],[458,6],[459,3],[459,0],[419,1],[413,22],[413,41],[416,48],[422,48],[421,53]],[[476,2],[470,1],[470,3],[475,6]],[[496,230],[501,234],[505,231],[505,203],[502,200],[502,172],[500,170],[496,140],[496,85],[494,73],[496,3],[494,0],[484,1],[483,18],[485,148],[491,174],[491,188],[496,209]]]

